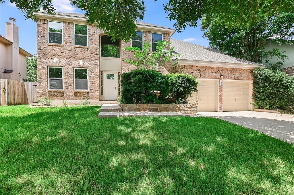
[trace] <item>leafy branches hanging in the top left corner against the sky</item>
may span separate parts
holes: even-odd
[[[43,10],[49,15],[55,13],[55,8],[52,6],[52,0],[9,0],[11,3],[15,3],[16,7],[24,13],[26,19],[32,19],[36,21],[36,16],[33,12]],[[4,3],[4,0],[0,0],[0,4]]]

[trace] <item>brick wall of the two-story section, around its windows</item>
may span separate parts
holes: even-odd
[[[49,96],[52,99],[82,99],[85,94],[90,99],[100,99],[100,70],[99,70],[99,36],[103,30],[88,24],[88,46],[74,46],[74,23],[63,21],[63,44],[48,43],[46,19],[37,20],[37,96],[38,99]],[[143,39],[151,44],[151,32],[144,31]],[[163,33],[163,40],[170,40],[170,34]],[[134,53],[124,48],[131,46],[131,42],[121,42],[121,72],[136,69],[124,62],[132,59]],[[54,60],[55,59],[55,60]],[[80,64],[80,60],[82,64]],[[48,90],[48,66],[63,67],[64,90]],[[74,67],[88,68],[88,90],[74,90]],[[167,73],[163,68],[164,74]]]

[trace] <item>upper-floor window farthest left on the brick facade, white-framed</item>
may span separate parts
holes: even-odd
[[[62,44],[62,22],[48,22],[48,43]]]

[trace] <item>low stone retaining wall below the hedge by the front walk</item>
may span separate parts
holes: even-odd
[[[119,104],[123,111],[179,112],[196,114],[196,104]]]

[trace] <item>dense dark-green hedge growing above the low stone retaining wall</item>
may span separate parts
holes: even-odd
[[[198,82],[188,74],[162,75],[155,70],[121,74],[122,104],[187,103]]]

